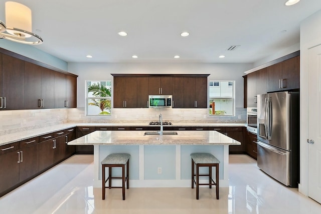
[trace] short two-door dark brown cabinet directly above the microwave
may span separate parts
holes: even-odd
[[[149,95],[172,95],[173,78],[170,76],[149,77]]]

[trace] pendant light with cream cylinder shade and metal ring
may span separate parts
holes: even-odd
[[[6,25],[0,23],[0,38],[28,45],[42,44],[43,39],[31,31],[31,10],[20,3],[6,2]]]

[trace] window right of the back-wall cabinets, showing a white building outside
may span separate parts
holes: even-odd
[[[210,81],[210,115],[235,114],[235,81]]]

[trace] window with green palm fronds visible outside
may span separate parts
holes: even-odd
[[[110,115],[111,81],[87,81],[87,115]]]

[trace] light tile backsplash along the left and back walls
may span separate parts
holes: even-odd
[[[110,116],[85,116],[85,108],[0,111],[0,135],[63,123],[119,123],[164,121],[205,123],[246,123],[246,109],[236,108],[236,116],[212,116],[208,109],[112,109]],[[240,118],[240,119],[239,119]]]

